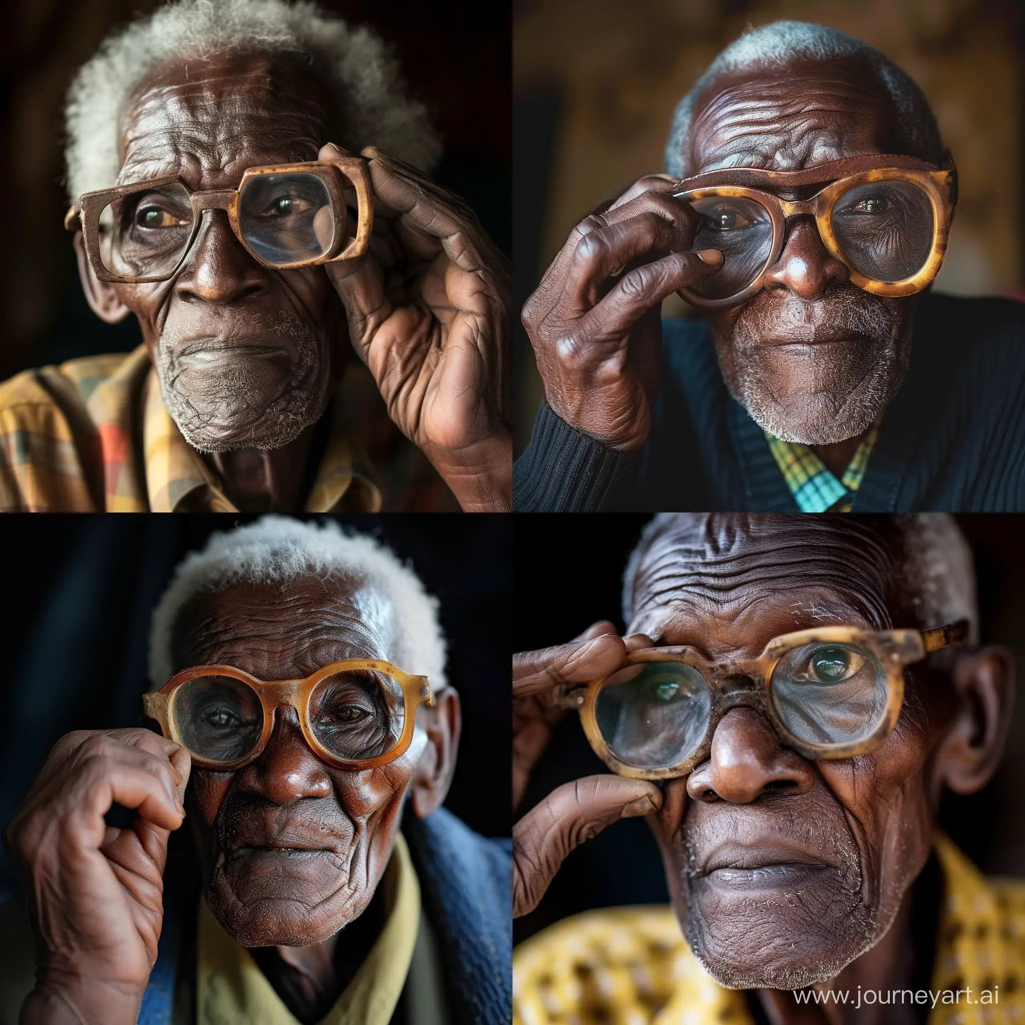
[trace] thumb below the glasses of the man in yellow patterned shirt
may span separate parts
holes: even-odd
[[[537,906],[570,851],[661,803],[654,783],[620,776],[587,776],[549,793],[512,827],[512,916]]]

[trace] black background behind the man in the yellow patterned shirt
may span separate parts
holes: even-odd
[[[625,624],[620,589],[626,560],[648,516],[516,518],[514,651],[565,644],[599,619]],[[983,644],[1007,645],[1025,676],[1025,532],[1020,516],[956,518],[975,554]],[[552,552],[559,552],[558,560]],[[983,871],[1025,875],[1025,699],[1018,685],[1011,735],[993,780],[971,796],[947,794],[940,825]],[[566,715],[541,755],[519,818],[557,786],[607,773]],[[561,918],[597,907],[668,902],[662,861],[644,819],[625,819],[578,847],[538,906],[514,922],[519,943]]]

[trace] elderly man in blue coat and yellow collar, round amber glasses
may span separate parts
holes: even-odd
[[[24,998],[23,1025],[505,1020],[508,853],[441,807],[444,667],[436,600],[371,538],[277,518],[214,535],[154,613],[159,727],[64,737],[5,830],[29,918],[2,912],[5,1007]],[[115,803],[127,828],[105,826]]]

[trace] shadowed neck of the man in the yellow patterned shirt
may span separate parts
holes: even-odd
[[[934,856],[905,894],[883,939],[835,979],[812,987],[821,994],[821,1002],[815,1001],[810,990],[757,991],[771,1025],[925,1025],[929,1003],[894,1001],[890,993],[929,989],[942,891],[943,880]],[[867,992],[872,995],[866,1002]],[[808,1002],[798,1003],[795,993],[810,994]],[[828,1002],[826,993],[832,994]],[[879,1002],[876,994],[886,1002]]]

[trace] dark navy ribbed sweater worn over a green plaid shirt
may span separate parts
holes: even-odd
[[[514,469],[517,511],[797,511],[765,434],[726,388],[704,322],[664,320],[662,352],[639,452],[607,448],[542,404]],[[924,295],[852,511],[1023,509],[1025,303]]]

